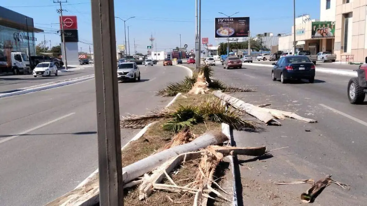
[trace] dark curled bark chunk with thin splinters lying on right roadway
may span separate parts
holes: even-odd
[[[298,181],[292,181],[292,182],[281,181],[281,182],[277,183],[277,185],[312,184],[311,188],[309,188],[306,192],[303,192],[301,194],[301,200],[304,203],[313,202],[315,200],[316,196],[318,194],[320,194],[320,192],[324,188],[329,186],[331,183],[337,184],[337,185],[339,185],[339,187],[341,187],[343,189],[348,189],[348,190],[350,189],[350,185],[335,181],[335,180],[331,179],[330,177],[331,177],[331,175],[329,174],[325,178],[318,180],[316,183],[315,183],[315,180],[313,180],[313,179],[305,179],[305,180],[298,180]]]

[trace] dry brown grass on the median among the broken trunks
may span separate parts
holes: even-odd
[[[210,98],[212,96],[213,95],[210,94],[193,95],[188,96],[187,98],[185,96],[180,96],[179,98],[177,98],[175,103],[172,104],[170,109],[177,108],[180,104],[195,105],[198,102],[201,102],[204,98]],[[170,131],[163,130],[161,126],[166,121],[167,120],[165,119],[157,121],[155,124],[148,128],[147,132],[140,139],[138,139],[137,141],[133,141],[126,149],[122,151],[123,166],[127,166],[131,163],[148,157],[171,141],[175,134]],[[190,130],[196,136],[200,136],[207,130],[221,130],[221,124],[212,121],[206,121],[204,123],[193,125]],[[184,186],[188,183],[191,183],[195,180],[195,172],[193,171],[197,171],[197,164],[198,161],[183,163],[183,165],[180,165],[173,173],[171,173],[172,180],[174,180],[175,183],[179,186]],[[164,183],[169,184],[168,181]],[[138,198],[137,187],[125,190],[124,194],[125,206],[189,206],[193,204],[194,199],[193,195],[189,193],[178,194],[168,191],[155,191],[148,198],[140,201]],[[179,203],[172,202],[168,197],[170,197],[173,201]]]

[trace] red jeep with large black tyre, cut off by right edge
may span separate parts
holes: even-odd
[[[351,104],[362,104],[367,93],[367,57],[366,63],[360,65],[358,77],[353,77],[348,83],[348,99]]]

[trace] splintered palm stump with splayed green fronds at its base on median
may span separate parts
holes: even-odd
[[[167,85],[164,89],[159,89],[159,96],[175,96],[178,93],[204,94],[214,90],[223,92],[255,92],[254,88],[240,88],[226,85],[220,80],[213,80],[213,69],[205,65],[200,67],[199,72],[194,73],[192,77],[185,77],[181,82],[174,82]]]

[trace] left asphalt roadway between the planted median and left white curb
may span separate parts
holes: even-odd
[[[139,68],[140,82],[119,84],[122,116],[166,106],[172,98],[155,92],[188,74],[160,63]],[[1,98],[0,108],[1,206],[43,205],[98,168],[94,80]],[[121,144],[138,131],[121,129]]]

